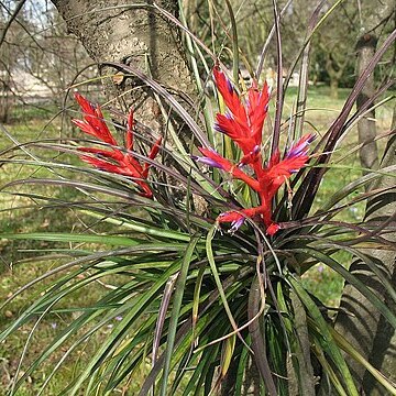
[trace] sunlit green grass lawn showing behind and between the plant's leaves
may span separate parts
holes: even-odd
[[[306,132],[317,131],[317,133],[324,133],[331,121],[337,117],[338,111],[343,105],[343,100],[346,97],[349,90],[340,89],[340,96],[338,100],[331,100],[329,98],[329,88],[310,88],[309,89],[309,111],[306,116],[307,130]],[[294,102],[295,91],[290,89],[288,97],[286,98],[285,114],[290,113],[290,109]],[[28,112],[26,112],[28,111]],[[7,131],[14,136],[18,142],[29,142],[36,139],[58,138],[65,135],[65,132],[61,131],[61,121],[55,120],[50,122],[52,111],[44,110],[26,110],[15,109],[13,114],[14,122],[10,125],[4,125]],[[392,119],[392,109],[389,107],[383,107],[377,111],[377,125],[380,131],[385,131],[389,128]],[[68,117],[66,117],[66,123]],[[62,132],[62,133],[61,133]],[[0,131],[0,152],[6,147],[11,146],[11,141],[6,138]],[[342,147],[334,154],[334,160],[340,158],[345,153],[349,153],[356,146],[358,136],[356,130],[352,130],[350,135],[344,140]],[[38,148],[31,150],[31,153],[40,153],[41,157],[53,156],[54,153],[42,154]],[[14,153],[14,160],[21,155]],[[58,154],[56,154],[58,155]],[[77,163],[78,158],[69,157],[68,161]],[[348,156],[346,164],[351,166],[350,169],[333,168],[328,172],[326,180],[321,186],[321,193],[318,197],[317,205],[323,202],[328,197],[336,193],[340,186],[344,186],[350,180],[360,176],[358,153],[353,153]],[[4,186],[15,179],[30,178],[30,177],[45,177],[48,176],[48,172],[44,169],[37,169],[36,167],[22,166],[15,164],[6,164],[2,166],[0,173],[0,186]],[[51,177],[51,175],[50,175]],[[70,189],[64,188],[51,188],[47,186],[41,186],[45,194],[52,194],[53,197],[59,200],[66,201],[75,193]],[[14,186],[13,191],[20,191],[20,186]],[[9,189],[10,190],[10,189]],[[37,189],[37,193],[40,189]],[[37,206],[38,204],[38,206]],[[13,210],[9,210],[13,208]],[[342,212],[344,220],[360,221],[363,218],[364,207],[356,206],[349,208]],[[40,206],[40,199],[33,201],[31,198],[24,196],[13,196],[3,190],[0,191],[0,229],[2,232],[73,232],[73,230],[87,230],[87,232],[108,231],[111,232],[109,226],[102,224],[101,229],[95,228],[90,230],[90,221],[81,217],[79,213],[73,210],[73,208],[43,208]],[[75,248],[84,249],[98,249],[98,245],[78,245]],[[62,256],[53,257],[52,260],[29,260],[36,258],[37,255],[47,254],[54,249],[65,248],[64,244],[50,243],[50,242],[32,242],[32,241],[7,241],[0,240],[0,288],[1,301],[14,293],[30,280],[44,274],[46,271],[56,267],[59,263],[63,263],[65,258]],[[67,248],[67,246],[66,246]],[[350,264],[350,257],[348,254],[341,252],[345,266]],[[109,282],[117,282],[117,279],[109,279]],[[326,305],[336,307],[339,304],[340,293],[342,289],[342,279],[334,274],[331,270],[323,265],[317,265],[312,267],[307,274],[304,275],[305,285]],[[45,293],[46,283],[40,283],[29,292],[20,295],[12,304],[0,311],[0,329],[10,324],[26,307],[29,301],[34,298],[35,295]],[[94,284],[89,288],[81,288],[77,290],[73,296],[69,296],[62,300],[57,306],[58,312],[51,314],[44,317],[37,323],[37,328],[30,339],[29,349],[24,356],[22,364],[22,372],[34,359],[40,355],[45,345],[47,345],[54,337],[57,337],[59,330],[64,328],[73,318],[78,317],[79,311],[75,311],[73,307],[89,307],[91,302],[98,300],[100,296],[106,292],[107,285]],[[78,304],[76,304],[78,301]],[[12,373],[18,366],[21,353],[30,337],[30,332],[34,327],[34,320],[23,324],[16,333],[10,337],[6,342],[0,344],[0,396],[6,394],[8,385],[12,380]],[[69,378],[75,375],[78,367],[84,365],[85,358],[89,356],[100,344],[100,340],[111,331],[111,326],[107,329],[102,329],[89,342],[76,350],[76,353],[67,361],[67,364],[59,371],[56,376],[56,381],[53,381],[51,387],[44,393],[45,395],[55,395],[61,392],[68,383]],[[56,364],[57,360],[63,356],[65,352],[63,346],[56,351],[47,361],[35,371],[34,376],[30,377],[25,386],[23,386],[18,395],[35,395],[40,386],[48,375],[51,367]],[[1,391],[2,389],[2,391]],[[3,393],[2,393],[3,392]]]

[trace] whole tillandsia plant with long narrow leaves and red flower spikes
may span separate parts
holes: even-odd
[[[332,394],[354,396],[360,384],[350,371],[352,359],[395,394],[394,384],[334,328],[331,309],[301,282],[314,265],[326,265],[396,327],[395,312],[337,254],[346,251],[361,261],[395,298],[394,286],[364,251],[367,245],[392,251],[385,238],[392,224],[342,218],[348,208],[378,194],[378,189],[362,193],[362,186],[384,175],[392,177],[395,166],[358,176],[324,202],[315,202],[329,169],[337,168],[330,160],[338,144],[373,106],[375,98],[350,114],[394,37],[378,50],[328,131],[319,131],[316,145],[314,133],[294,128],[297,113],[282,122],[280,77],[274,127],[265,134],[271,106],[266,84],[253,79],[244,92],[237,80],[230,81],[226,68],[216,65],[219,109],[226,105],[228,110],[219,110],[216,124],[202,130],[151,77],[131,66],[108,63],[140,78],[165,114],[186,123],[195,143],[191,150],[172,122],[158,138],[136,122],[132,111],[124,117],[124,128],[117,125],[118,132],[124,131],[125,144],[119,144],[100,107],[76,95],[84,120],[73,122],[95,140],[43,140],[3,151],[4,158],[10,155],[10,162],[18,162],[12,155],[22,148],[28,158],[19,162],[48,169],[48,177],[15,180],[3,190],[33,184],[75,189],[67,200],[31,190],[13,194],[31,197],[43,209],[72,208],[88,224],[69,233],[2,235],[67,243],[55,251],[64,262],[6,301],[43,282],[30,307],[0,333],[2,342],[34,323],[10,394],[18,395],[35,370],[50,361],[52,370],[36,389],[37,395],[44,394],[69,359],[84,350],[88,351],[84,364],[76,363],[57,393],[314,395],[330,386]],[[205,112],[210,119],[209,108]],[[219,133],[212,133],[213,127]],[[63,156],[48,161],[36,151],[32,154],[33,147],[72,153],[92,166],[73,164],[69,156],[64,156],[68,162],[62,162]],[[89,290],[97,284],[103,286],[102,293],[90,301]],[[75,315],[67,316],[70,312]],[[50,315],[64,316],[65,324],[25,364],[30,342]]]

